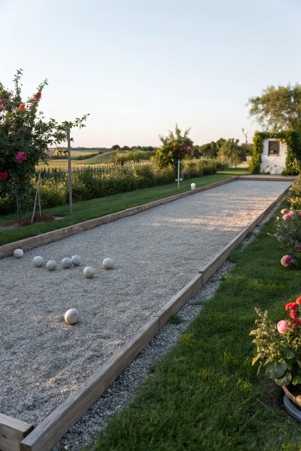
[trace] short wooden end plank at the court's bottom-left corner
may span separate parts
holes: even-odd
[[[33,424],[0,413],[0,450],[20,451],[21,441],[32,429]]]

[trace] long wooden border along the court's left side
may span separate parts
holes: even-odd
[[[72,226],[63,227],[62,229],[51,230],[50,232],[30,236],[29,238],[14,241],[13,243],[3,244],[2,246],[0,246],[0,258],[5,258],[9,257],[9,255],[13,255],[15,249],[21,248],[23,250],[27,250],[46,243],[51,243],[52,241],[58,241],[59,239],[65,238],[69,235],[74,235],[76,233],[82,232],[83,230],[93,229],[93,227],[101,226],[102,224],[107,224],[108,222],[116,221],[116,219],[124,218],[125,216],[131,216],[144,210],[149,210],[150,208],[157,207],[158,205],[161,205],[163,203],[171,202],[185,196],[189,196],[190,194],[199,193],[200,191],[215,188],[216,186],[232,182],[233,180],[236,180],[236,177],[229,177],[228,179],[220,180],[219,182],[201,186],[200,188],[196,189],[191,189],[190,191],[184,191],[184,193],[174,194],[173,196],[169,196],[167,198],[157,199],[153,202],[138,205],[137,207],[126,208],[125,210],[120,210],[119,212],[111,213],[109,215],[89,219],[88,221],[78,222],[77,224],[73,224]]]

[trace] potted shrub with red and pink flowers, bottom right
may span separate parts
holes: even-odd
[[[265,375],[282,385],[301,384],[301,296],[295,302],[285,305],[287,318],[275,324],[268,318],[268,312],[255,308],[260,319],[257,329],[250,332],[256,346],[252,365],[259,363]]]

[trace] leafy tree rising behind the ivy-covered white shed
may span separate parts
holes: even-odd
[[[250,116],[269,131],[301,130],[301,85],[268,86],[260,97],[251,97]]]

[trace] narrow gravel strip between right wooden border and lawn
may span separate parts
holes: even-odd
[[[258,235],[263,224],[269,220],[276,208],[273,208],[258,226],[253,229],[242,242],[242,247],[250,244]],[[202,286],[194,296],[178,311],[179,323],[169,321],[162,327],[152,341],[140,352],[133,362],[125,368],[110,388],[96,401],[83,417],[74,424],[69,432],[57,443],[53,451],[80,451],[83,446],[93,445],[98,433],[107,426],[108,420],[128,407],[139,384],[147,377],[152,377],[150,368],[159,362],[167,351],[179,340],[186,327],[201,311],[204,303],[212,298],[223,276],[226,276],[234,263],[224,262],[213,276]],[[92,446],[91,446],[92,448]]]

